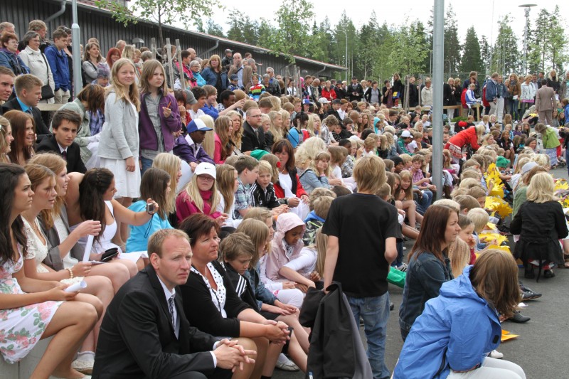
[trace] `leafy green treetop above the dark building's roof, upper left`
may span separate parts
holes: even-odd
[[[111,11],[112,17],[124,26],[137,23],[138,18],[155,23],[161,44],[164,44],[164,24],[181,22],[186,28],[191,24],[200,26],[203,17],[211,17],[214,9],[222,7],[220,0],[137,0],[132,6],[123,6],[112,0],[96,0],[95,5]]]

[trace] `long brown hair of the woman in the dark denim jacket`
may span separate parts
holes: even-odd
[[[419,236],[413,245],[413,250],[409,255],[409,262],[413,256],[421,255],[423,252],[430,252],[435,255],[441,262],[445,262],[445,255],[448,246],[442,249],[442,243],[445,242],[445,231],[451,213],[458,212],[454,208],[447,205],[431,205],[421,223]]]

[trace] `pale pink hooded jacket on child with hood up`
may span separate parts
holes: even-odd
[[[306,225],[304,225],[302,220],[295,213],[283,213],[277,218],[277,231],[275,232],[275,236],[272,237],[271,252],[267,255],[267,266],[265,267],[265,274],[267,278],[272,281],[287,280],[287,278],[279,274],[281,267],[299,257],[300,251],[302,247],[304,247],[304,242],[302,242],[302,238],[300,238],[297,244],[294,245],[294,251],[289,257],[287,257],[285,247],[283,247],[285,233],[299,225],[302,225],[302,234],[304,234]]]

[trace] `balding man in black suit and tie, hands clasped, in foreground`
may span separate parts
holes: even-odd
[[[125,283],[107,307],[92,378],[218,379],[230,378],[231,370],[243,364],[252,369],[248,355],[255,351],[218,341],[186,319],[175,288],[190,274],[188,235],[159,230],[151,235],[148,252],[150,265]]]

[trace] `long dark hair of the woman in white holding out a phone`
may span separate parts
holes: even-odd
[[[101,231],[95,240],[105,233],[105,200],[103,195],[109,189],[115,176],[108,169],[90,169],[79,184],[79,208],[83,220],[100,221]]]

